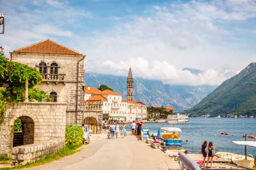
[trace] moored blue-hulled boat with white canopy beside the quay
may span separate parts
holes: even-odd
[[[182,146],[180,128],[159,128],[157,138],[162,139],[167,147],[172,147],[173,149]]]

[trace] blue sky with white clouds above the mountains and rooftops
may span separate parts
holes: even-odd
[[[6,53],[49,38],[85,54],[90,72],[220,84],[256,59],[255,1],[2,0],[0,12]]]

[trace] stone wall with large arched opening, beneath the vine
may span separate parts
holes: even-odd
[[[11,155],[13,149],[13,126],[14,121],[22,117],[29,117],[34,122],[28,121],[28,131],[30,135],[27,143],[31,144],[34,131],[34,144],[46,142],[52,139],[65,139],[66,124],[66,104],[53,102],[20,102],[18,104],[9,103],[6,105],[5,122],[0,130],[0,154]],[[26,118],[28,120],[28,118]],[[34,125],[34,129],[32,129]]]

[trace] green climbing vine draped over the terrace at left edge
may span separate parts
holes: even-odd
[[[22,63],[9,61],[3,50],[0,50],[0,125],[5,120],[5,102],[24,101],[26,82],[30,88],[30,101],[33,99],[42,101],[45,97],[44,92],[33,88],[42,80],[38,70]]]

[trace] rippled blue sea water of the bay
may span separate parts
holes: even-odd
[[[157,132],[158,127],[169,126],[182,130],[183,148],[190,154],[199,154],[204,140],[212,141],[216,152],[244,154],[245,147],[232,141],[244,141],[242,136],[245,134],[256,137],[256,118],[189,118],[187,124],[152,123],[143,125],[143,129]],[[221,132],[229,135],[221,135]],[[256,142],[256,139],[247,138],[247,141]],[[256,147],[247,146],[247,154],[256,156]]]

